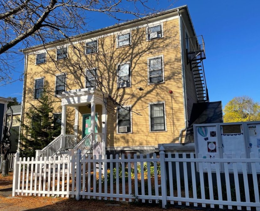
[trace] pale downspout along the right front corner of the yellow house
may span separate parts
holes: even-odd
[[[184,50],[183,50],[183,40],[182,40],[182,23],[181,23],[181,14],[179,13],[179,34],[180,34],[180,55],[181,55],[181,71],[182,71],[182,87],[183,87],[183,105],[184,105],[184,122],[185,128],[180,130],[179,134],[179,143],[181,143],[181,137],[184,131],[188,128],[188,115],[187,115],[187,96],[186,96],[186,83],[185,83],[185,66],[184,66]]]

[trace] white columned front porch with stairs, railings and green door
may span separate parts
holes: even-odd
[[[88,156],[99,144],[102,156],[105,155],[107,110],[101,92],[95,88],[77,89],[57,95],[61,99],[61,134],[42,150],[37,150],[38,157],[52,157],[58,154],[71,154],[78,149]],[[75,109],[74,114],[67,111]],[[73,117],[71,116],[73,115]],[[73,132],[66,134],[67,119],[74,118]]]

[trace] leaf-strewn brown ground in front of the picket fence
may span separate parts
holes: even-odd
[[[60,197],[36,197],[36,196],[12,196],[13,174],[10,173],[7,177],[0,175],[0,211],[99,211],[99,210],[145,210],[156,211],[162,210],[159,204],[151,205],[136,205],[121,203],[115,201],[81,199],[79,201],[75,198],[60,198]],[[191,211],[188,208],[168,208],[171,211]]]

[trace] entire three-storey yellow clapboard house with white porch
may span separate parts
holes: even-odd
[[[149,153],[185,143],[194,103],[209,101],[204,41],[187,6],[24,50],[22,121],[43,90],[61,135],[38,155]],[[23,131],[23,129],[22,129]],[[44,154],[45,153],[45,154]]]

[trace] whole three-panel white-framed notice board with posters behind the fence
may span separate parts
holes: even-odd
[[[195,124],[193,129],[196,157],[201,153],[203,158],[206,158],[206,154],[214,158],[217,153],[223,158],[225,153],[227,158],[232,158],[232,153],[235,153],[236,158],[240,158],[241,153],[244,153],[250,158],[250,153],[253,152],[255,157],[260,158],[260,121]],[[216,169],[214,163],[211,163],[211,168]],[[257,172],[260,172],[260,163],[256,168]],[[223,169],[222,165],[220,170]],[[228,169],[233,171],[232,163],[228,164]],[[206,163],[203,165],[203,170],[206,170]],[[241,163],[237,163],[237,170],[242,171]],[[250,165],[247,165],[247,171],[251,172]]]

